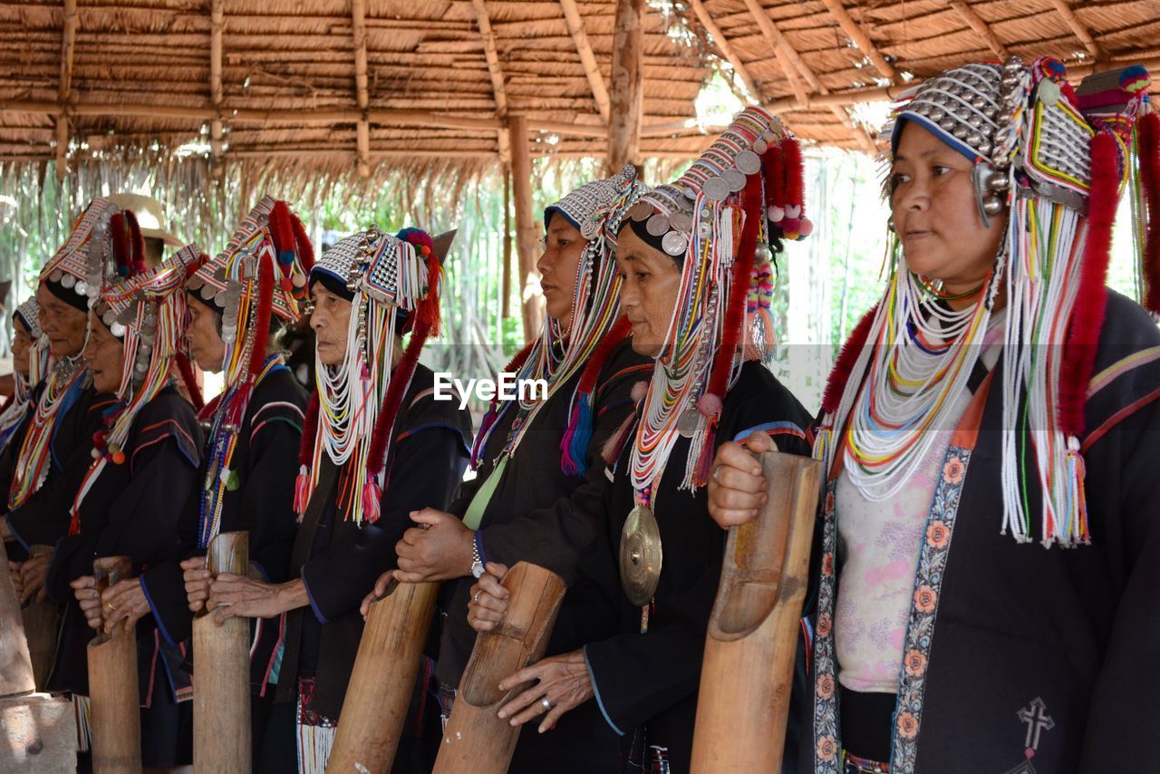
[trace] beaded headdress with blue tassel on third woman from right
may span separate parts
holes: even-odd
[[[507,454],[513,454],[548,398],[580,372],[571,397],[568,427],[560,441],[560,469],[570,476],[586,471],[596,379],[608,356],[631,330],[621,317],[621,277],[612,253],[622,218],[647,190],[632,165],[626,164],[616,175],[585,183],[544,209],[545,225],[551,212],[560,212],[587,240],[577,266],[572,318],[564,330],[560,320],[545,313],[539,338],[503,369],[517,374],[519,379],[546,381],[548,395],[539,399],[521,396],[507,403],[498,398],[492,400],[476,434],[473,466],[478,466],[491,432],[505,411],[523,412],[523,419],[516,424],[519,428],[513,431],[505,447]]]

